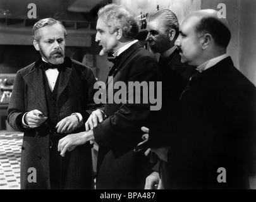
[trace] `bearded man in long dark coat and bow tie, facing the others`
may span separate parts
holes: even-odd
[[[21,189],[92,189],[91,146],[59,155],[59,139],[85,131],[95,77],[88,66],[65,56],[67,32],[60,21],[39,20],[33,28],[40,59],[20,69],[8,108],[8,122],[24,133]],[[34,168],[36,173],[28,172]]]

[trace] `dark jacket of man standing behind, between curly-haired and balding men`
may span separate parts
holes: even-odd
[[[158,62],[160,80],[162,81],[162,108],[161,110],[152,113],[152,124],[150,124],[149,135],[150,141],[154,142],[154,146],[157,146],[159,136],[169,136],[169,128],[165,124],[162,124],[163,120],[169,120],[170,114],[173,113],[173,108],[178,104],[181,93],[183,92],[189,78],[197,71],[192,66],[181,63],[181,57],[177,49],[167,58],[160,57]],[[161,128],[161,130],[159,130]],[[149,144],[151,144],[149,142]],[[152,153],[151,160],[154,162],[157,158]],[[159,167],[159,165],[161,165]],[[153,171],[160,172],[162,184],[167,187],[165,175],[168,170],[168,163],[161,162],[153,168]]]

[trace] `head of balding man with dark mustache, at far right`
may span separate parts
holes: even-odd
[[[175,45],[181,62],[199,66],[209,59],[226,54],[231,39],[228,22],[218,18],[217,11],[203,9],[190,13],[180,25]]]

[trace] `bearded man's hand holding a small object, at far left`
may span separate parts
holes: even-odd
[[[27,114],[25,114],[24,116],[24,122],[30,128],[39,127],[44,121],[46,121],[46,119],[47,117],[44,116],[44,114],[37,109],[27,112]]]

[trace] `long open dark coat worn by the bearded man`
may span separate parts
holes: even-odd
[[[49,128],[46,122],[39,128],[25,129],[21,119],[25,112],[38,109],[47,114],[46,89],[41,59],[16,73],[8,107],[8,122],[16,131],[24,132],[21,150],[21,189],[49,189]],[[90,68],[73,59],[65,58],[66,68],[59,72],[57,95],[58,121],[80,112],[83,121],[88,119],[87,104],[93,102],[95,77]],[[47,82],[47,81],[46,81]],[[84,126],[73,133],[84,131]],[[65,134],[63,134],[65,135]],[[63,170],[63,188],[89,189],[92,187],[92,157],[90,144],[78,146],[62,158],[68,164]],[[28,169],[37,170],[37,182],[27,181]]]

